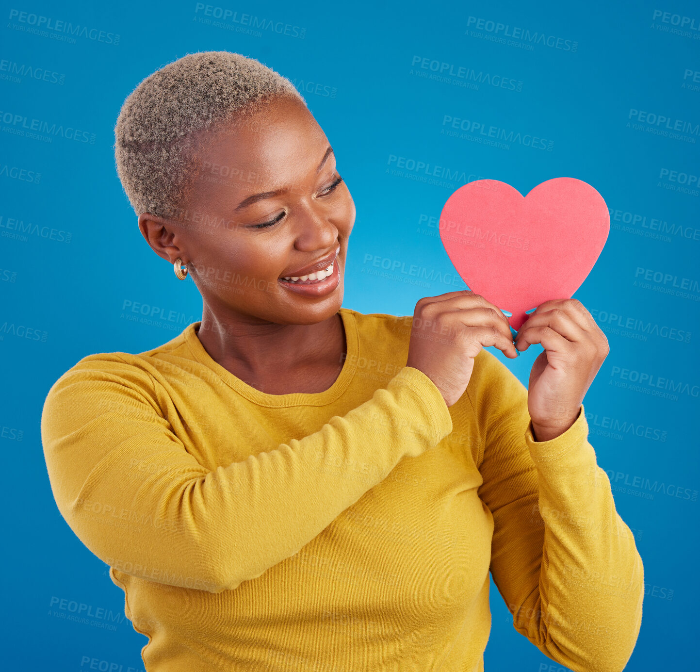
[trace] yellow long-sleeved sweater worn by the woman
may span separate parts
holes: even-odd
[[[481,671],[489,570],[543,653],[622,670],[643,566],[583,407],[536,442],[489,351],[448,408],[405,366],[411,316],[340,314],[347,355],[321,393],[248,386],[199,322],[50,389],[56,503],[124,590],[146,670]]]

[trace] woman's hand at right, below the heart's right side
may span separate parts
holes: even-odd
[[[537,307],[514,342],[521,352],[533,343],[545,349],[530,372],[527,406],[535,440],[548,441],[577,419],[610,351],[608,339],[580,301],[554,299]]]

